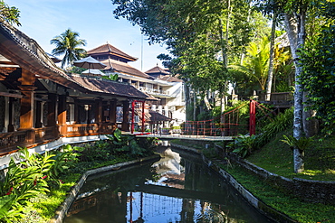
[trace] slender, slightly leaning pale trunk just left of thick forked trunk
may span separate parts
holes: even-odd
[[[266,93],[265,101],[269,101],[271,98],[271,91],[273,87],[273,60],[274,60],[274,39],[275,39],[275,24],[277,23],[277,14],[273,13],[273,25],[271,27],[271,40],[270,40],[270,61],[269,71],[266,82]]]

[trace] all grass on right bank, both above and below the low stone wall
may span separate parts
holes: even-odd
[[[331,136],[323,141],[315,137],[311,147],[305,151],[305,172],[293,172],[292,150],[287,144],[282,143],[282,135],[292,135],[292,130],[283,131],[277,134],[271,142],[263,148],[255,151],[247,157],[250,163],[254,163],[263,169],[282,175],[287,178],[299,177],[314,181],[335,181],[335,137]],[[183,142],[174,141],[177,144]],[[187,144],[187,146],[192,146]],[[193,147],[193,146],[192,146]],[[204,149],[204,148],[203,148]],[[206,151],[204,151],[206,153]],[[209,154],[209,156],[214,154]],[[217,158],[214,157],[213,158]],[[335,207],[318,203],[309,203],[293,198],[246,172],[238,165],[229,168],[222,165],[221,168],[229,172],[244,187],[251,191],[259,200],[267,205],[288,215],[298,222],[335,222]]]

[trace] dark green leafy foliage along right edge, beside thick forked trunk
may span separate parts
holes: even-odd
[[[321,33],[311,36],[301,53],[301,79],[303,88],[309,93],[308,109],[317,112],[315,117],[322,120],[322,132],[325,135],[331,135],[335,126],[334,5],[333,2],[322,5],[320,15],[326,23],[321,27]]]

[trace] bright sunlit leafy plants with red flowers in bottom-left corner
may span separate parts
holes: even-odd
[[[31,205],[30,200],[38,194],[49,192],[49,188],[62,183],[57,177],[77,161],[77,153],[70,145],[61,151],[29,153],[20,149],[20,163],[11,160],[5,181],[0,181],[0,220],[14,221],[24,217],[23,211]]]

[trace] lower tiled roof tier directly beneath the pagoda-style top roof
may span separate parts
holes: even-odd
[[[104,70],[114,70],[120,73],[138,76],[144,79],[151,79],[151,77],[148,76],[148,74],[131,67],[128,63],[112,59],[101,60],[101,62],[107,65],[107,67]]]

